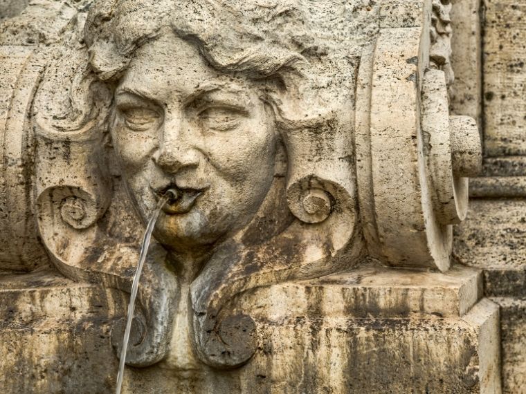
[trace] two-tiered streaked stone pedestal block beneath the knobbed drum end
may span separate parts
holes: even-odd
[[[460,266],[368,267],[261,289],[247,305],[270,311],[271,341],[246,392],[500,393],[498,306],[481,283]]]

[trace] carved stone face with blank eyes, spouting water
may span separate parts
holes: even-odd
[[[167,32],[137,51],[115,106],[111,138],[143,221],[168,188],[181,195],[158,218],[163,245],[202,251],[247,225],[271,187],[277,139],[253,82]]]

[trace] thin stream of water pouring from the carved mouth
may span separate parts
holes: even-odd
[[[176,198],[177,198],[177,193],[176,191],[172,189],[168,190],[164,194],[164,196],[161,196],[161,198],[159,199],[157,203],[157,207],[154,213],[149,218],[148,225],[144,233],[143,244],[140,247],[140,255],[139,255],[139,261],[137,264],[137,270],[134,275],[134,282],[131,285],[131,294],[129,296],[126,329],[125,329],[124,338],[123,338],[123,348],[122,350],[120,350],[119,371],[117,375],[116,394],[120,394],[120,389],[123,386],[124,367],[125,367],[125,362],[126,362],[126,352],[128,349],[129,333],[131,331],[131,321],[134,318],[134,312],[135,312],[135,298],[137,297],[137,290],[138,290],[138,285],[139,285],[140,274],[141,272],[143,272],[143,265],[146,260],[146,255],[148,253],[149,241],[152,238],[152,232],[154,231],[155,222],[157,221],[159,212],[161,212],[163,205],[165,205],[165,203],[167,203],[168,200],[170,199],[175,200]]]

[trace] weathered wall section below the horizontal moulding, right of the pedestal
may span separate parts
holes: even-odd
[[[482,268],[484,294],[500,306],[504,393],[522,393],[526,382],[525,223],[523,200],[471,200],[469,216],[456,230],[453,252],[462,263]]]

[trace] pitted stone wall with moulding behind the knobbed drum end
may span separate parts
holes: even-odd
[[[479,64],[455,84],[463,92],[453,110],[479,119],[484,171],[471,179],[470,208],[455,229],[454,255],[484,272],[484,292],[500,306],[502,391],[526,392],[526,3],[453,1],[454,15],[479,15],[456,64]],[[455,36],[453,36],[455,37]],[[478,62],[479,61],[479,62]],[[456,66],[454,64],[454,67]],[[478,78],[472,78],[477,75]]]

